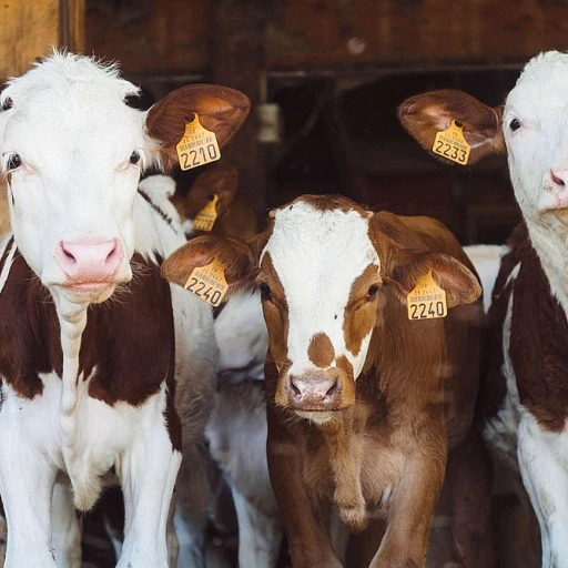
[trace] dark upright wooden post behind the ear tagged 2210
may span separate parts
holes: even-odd
[[[256,140],[256,106],[262,99],[264,29],[272,2],[219,0],[213,16],[212,65],[215,83],[244,92],[252,111],[241,131],[222,151],[222,162],[239,170],[239,190],[226,225],[239,236],[251,236],[262,226],[266,210],[263,149]]]

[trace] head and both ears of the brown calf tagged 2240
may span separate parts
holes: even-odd
[[[278,371],[276,405],[314,422],[355,403],[385,286],[406,296],[432,270],[448,307],[480,294],[475,276],[448,255],[416,253],[383,233],[381,219],[342,196],[304,195],[273,210],[267,229],[245,243],[200,236],[162,265],[184,284],[213,258],[225,266],[229,294],[257,286]],[[386,331],[387,333],[387,331]]]

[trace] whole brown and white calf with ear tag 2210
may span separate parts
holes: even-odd
[[[161,260],[185,239],[136,190],[143,168],[174,163],[195,113],[222,145],[248,102],[194,85],[145,113],[125,104],[136,92],[114,67],[54,53],[1,93],[13,231],[0,244],[10,568],[80,566],[73,505],[92,507],[110,473],[125,501],[118,566],[165,567],[182,452],[178,495],[187,498],[192,477],[205,485],[199,444],[216,371],[213,320],[161,278]]]

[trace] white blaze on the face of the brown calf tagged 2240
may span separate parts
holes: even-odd
[[[369,217],[354,210],[322,211],[296,201],[276,211],[263,255],[270,254],[286,297],[292,375],[315,368],[308,346],[318,333],[327,335],[334,347],[331,366],[344,355],[353,365],[354,377],[361,373],[371,332],[361,351],[351,353],[345,344],[344,317],[354,281],[369,265],[377,272],[381,268],[368,230]]]

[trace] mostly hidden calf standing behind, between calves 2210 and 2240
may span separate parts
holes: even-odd
[[[149,178],[148,183],[163,185],[156,176]],[[190,236],[195,236],[194,217],[212,195],[219,197],[216,210],[219,217],[223,217],[235,191],[236,170],[216,168],[201,174],[185,199],[175,199]],[[213,231],[219,232],[217,224]],[[263,366],[268,338],[260,293],[232,296],[215,313],[214,329],[220,355],[217,389],[205,437],[211,456],[223,473],[221,483],[229,485],[233,496],[239,525],[239,565],[271,568],[278,560],[283,529],[266,464]],[[223,505],[220,500],[217,517]]]

